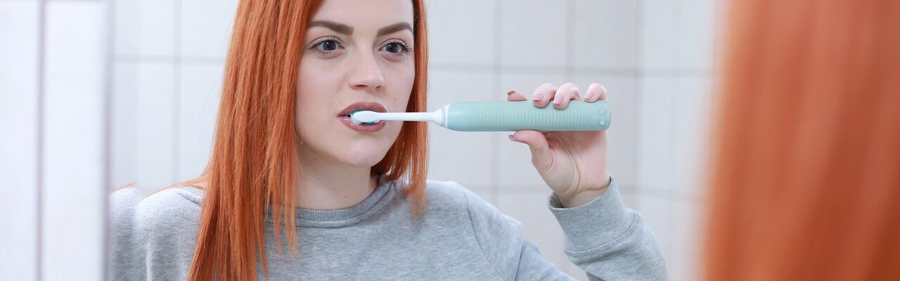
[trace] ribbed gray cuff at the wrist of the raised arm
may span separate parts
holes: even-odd
[[[616,179],[612,179],[603,195],[588,204],[563,208],[555,194],[547,199],[550,212],[563,227],[565,249],[596,249],[617,240],[629,230],[632,218],[626,213]]]

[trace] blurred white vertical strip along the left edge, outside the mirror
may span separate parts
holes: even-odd
[[[0,0],[0,280],[102,280],[107,1]]]

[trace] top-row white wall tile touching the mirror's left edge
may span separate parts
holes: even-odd
[[[115,0],[117,56],[175,55],[175,0]]]

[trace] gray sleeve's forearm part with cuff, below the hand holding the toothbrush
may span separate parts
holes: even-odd
[[[590,280],[668,280],[665,260],[641,214],[622,204],[616,180],[588,204],[550,211],[563,228],[565,254]]]

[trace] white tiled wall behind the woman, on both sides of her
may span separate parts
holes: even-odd
[[[113,162],[125,168],[115,170],[114,183],[158,186],[196,177],[211,149],[237,0],[116,4],[116,93],[157,84],[113,98],[133,108],[116,108]],[[428,108],[505,100],[513,89],[530,97],[546,82],[574,82],[582,91],[604,84],[615,115],[610,172],[626,204],[653,228],[672,279],[692,279],[715,6],[716,0],[428,0]],[[167,122],[174,124],[166,128]],[[509,141],[509,132],[429,129],[429,179],[454,180],[497,204],[526,225],[526,237],[548,260],[584,278],[562,254],[561,232],[545,208],[549,189],[525,144]]]

